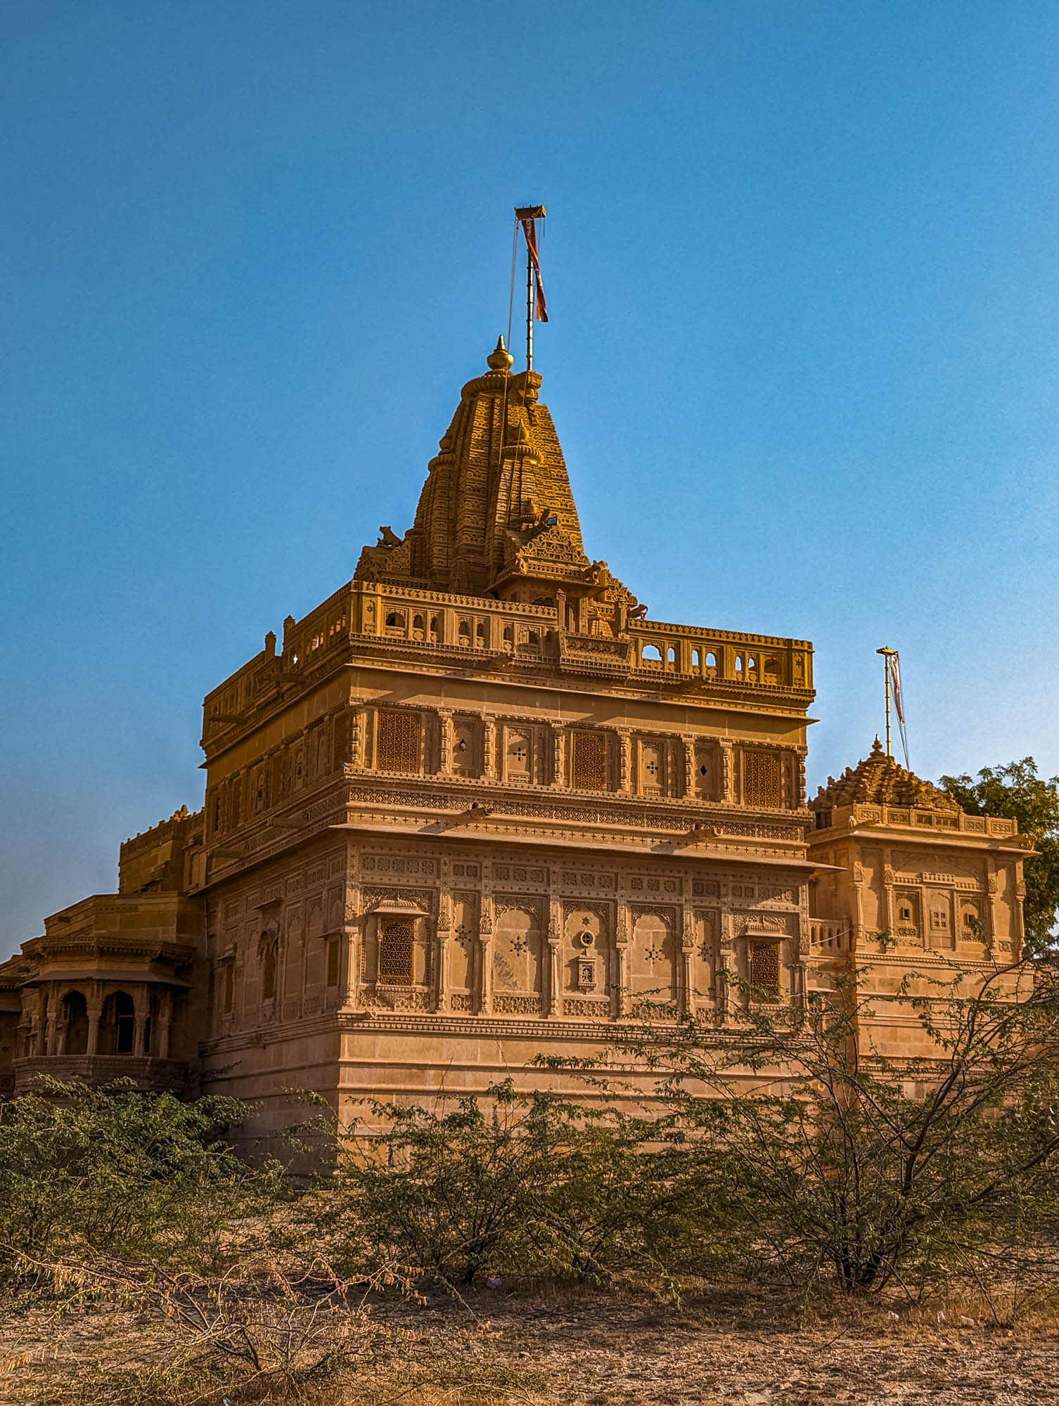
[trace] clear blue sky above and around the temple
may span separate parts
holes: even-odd
[[[0,124],[0,955],[409,526],[526,201],[589,554],[814,641],[813,790],[882,644],[920,775],[1059,772],[1055,0],[7,0]]]

